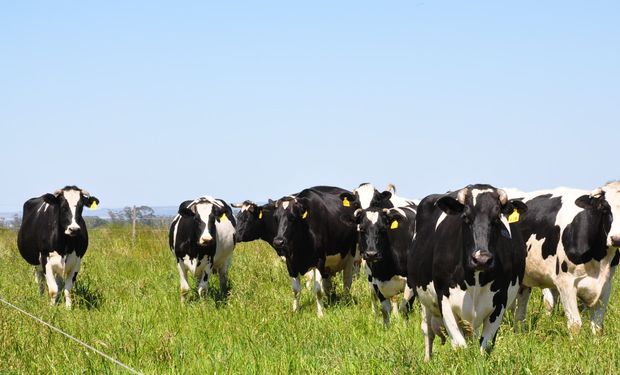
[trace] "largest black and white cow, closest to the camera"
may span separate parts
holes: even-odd
[[[527,207],[490,185],[430,195],[418,206],[407,283],[422,305],[425,360],[435,334],[454,348],[482,326],[480,350],[489,350],[525,270],[525,242],[507,217]]]

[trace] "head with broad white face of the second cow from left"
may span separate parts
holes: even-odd
[[[225,206],[209,196],[193,201],[183,202],[179,207],[179,215],[194,220],[194,231],[199,246],[209,246],[215,241],[215,222],[226,220]]]

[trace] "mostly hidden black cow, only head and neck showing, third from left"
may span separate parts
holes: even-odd
[[[232,206],[239,208],[235,235],[237,242],[250,242],[261,239],[273,246],[273,238],[278,230],[276,221],[273,218],[276,208],[274,201],[270,199],[268,203],[259,206],[252,201],[246,200],[243,203],[233,204]],[[275,250],[278,256],[284,257],[279,250]]]

